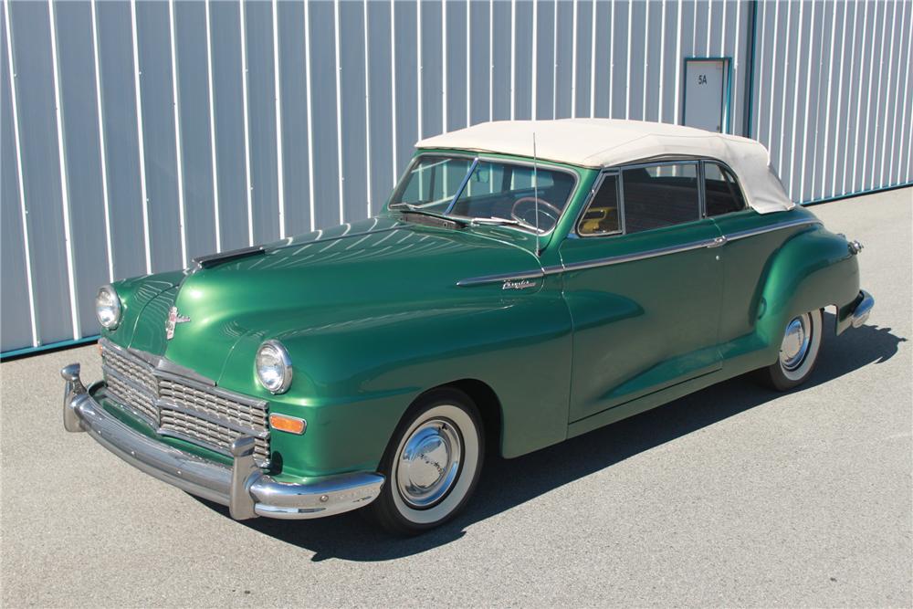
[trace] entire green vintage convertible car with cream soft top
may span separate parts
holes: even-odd
[[[417,533],[517,457],[755,371],[779,390],[865,322],[861,246],[760,143],[504,121],[417,144],[382,214],[125,279],[64,425],[233,518],[367,507]],[[100,474],[101,475],[101,474]]]

